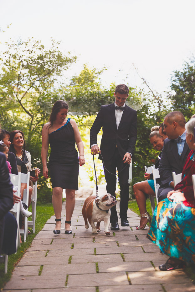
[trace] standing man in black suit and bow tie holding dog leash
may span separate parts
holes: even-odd
[[[120,218],[121,226],[129,226],[127,209],[129,201],[129,164],[134,153],[137,138],[137,113],[125,102],[129,96],[129,88],[119,84],[115,88],[115,102],[102,105],[90,130],[91,154],[101,153],[104,160],[104,173],[107,193],[115,196],[116,168],[121,188]],[[97,135],[102,127],[100,148]],[[99,159],[101,159],[99,155]],[[110,174],[110,173],[111,174]],[[116,207],[112,207],[110,215],[111,230],[119,230]]]

